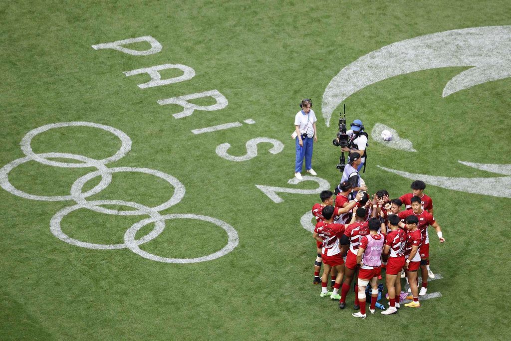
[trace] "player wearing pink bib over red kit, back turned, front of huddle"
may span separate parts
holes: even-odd
[[[375,313],[376,301],[378,299],[378,275],[381,272],[381,255],[385,237],[378,233],[381,223],[378,218],[369,219],[369,234],[360,239],[360,246],[357,252],[357,264],[360,265],[358,274],[358,301],[360,302],[360,311],[352,315],[356,318],[365,319],[365,288],[371,284],[371,304],[369,311]]]

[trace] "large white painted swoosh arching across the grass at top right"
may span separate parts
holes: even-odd
[[[511,26],[488,26],[427,34],[384,46],[344,67],[323,93],[327,127],[351,94],[390,77],[439,67],[472,66],[453,77],[442,96],[511,77]]]

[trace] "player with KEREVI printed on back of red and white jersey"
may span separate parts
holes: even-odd
[[[356,222],[346,227],[344,235],[341,237],[340,245],[342,246],[342,254],[346,253],[345,277],[342,283],[341,299],[339,300],[339,308],[344,309],[346,306],[346,296],[350,292],[350,286],[358,270],[357,253],[360,245],[360,238],[369,234],[368,223],[365,220],[365,208],[359,207],[355,213]],[[358,286],[355,286],[355,305],[354,309],[359,309],[358,302]]]

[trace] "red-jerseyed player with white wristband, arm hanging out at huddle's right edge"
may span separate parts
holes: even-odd
[[[428,226],[431,225],[436,231],[436,234],[438,235],[438,240],[443,243],[445,241],[445,238],[442,235],[442,229],[438,225],[437,222],[435,222],[435,218],[426,210],[424,210],[421,206],[421,198],[419,197],[413,197],[411,200],[412,209],[399,212],[399,217],[401,219],[413,215],[416,216],[419,220],[419,230],[421,230],[422,233],[422,246],[419,250],[420,256],[421,256],[421,277],[422,277],[422,287],[421,292],[419,295],[424,296],[426,295],[426,292],[428,290],[428,276],[429,272],[431,272],[429,268],[429,235],[428,235]],[[431,277],[431,276],[429,276]],[[434,275],[433,275],[434,278]]]

